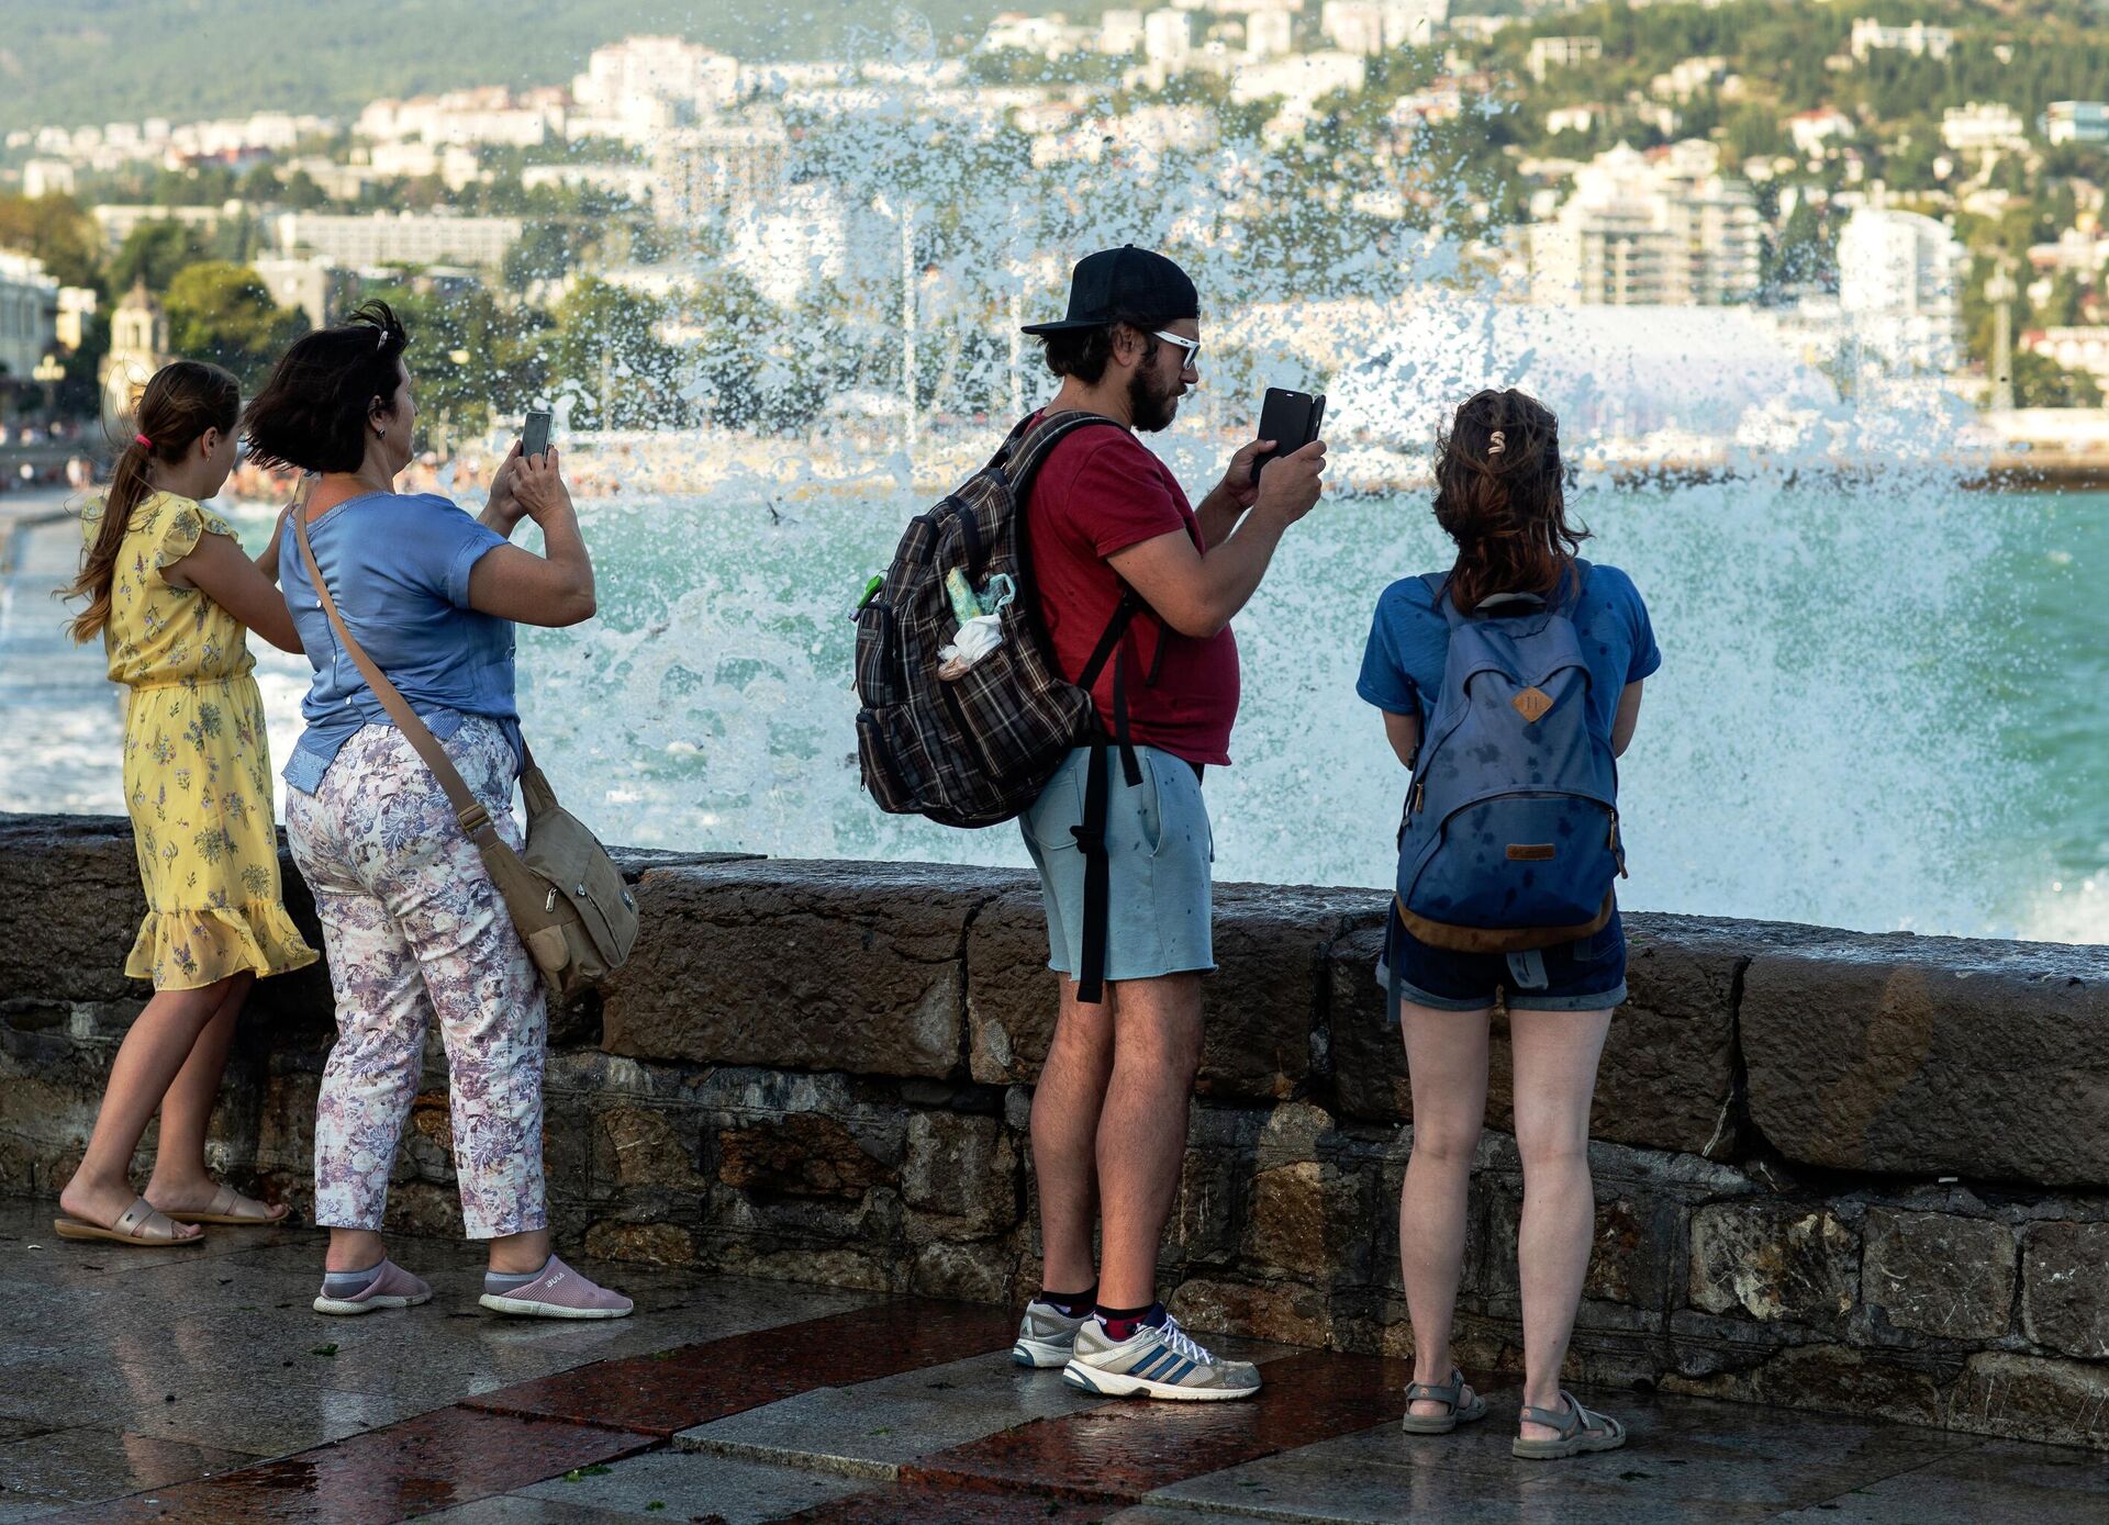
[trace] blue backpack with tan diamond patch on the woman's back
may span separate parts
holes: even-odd
[[[1424,582],[1451,635],[1398,833],[1398,915],[1421,943],[1462,953],[1588,937],[1611,920],[1626,871],[1618,764],[1573,624],[1588,561],[1550,601],[1497,595],[1470,616],[1445,574]]]

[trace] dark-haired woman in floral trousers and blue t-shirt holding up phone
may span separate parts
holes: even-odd
[[[297,513],[346,629],[519,848],[512,624],[593,618],[593,561],[557,451],[523,458],[515,445],[481,519],[394,489],[418,428],[407,348],[394,312],[369,302],[285,352],[245,435],[259,464],[316,475]],[[521,519],[542,527],[542,555],[510,544]],[[314,1310],[367,1314],[432,1297],[388,1259],[380,1228],[437,1017],[462,1223],[489,1242],[483,1306],[620,1318],[631,1301],[548,1247],[548,1019],[534,962],[439,778],[337,641],[297,536],[285,536],[278,578],[314,664],[308,728],[285,768],[287,837],[314,890],[337,996],[314,1120],[314,1219],[329,1230]]]

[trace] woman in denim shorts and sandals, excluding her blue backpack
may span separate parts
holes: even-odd
[[[1481,392],[1438,441],[1436,523],[1457,542],[1443,599],[1474,612],[1495,595],[1552,599],[1575,576],[1586,538],[1567,521],[1559,422],[1523,392]],[[1647,607],[1618,567],[1594,565],[1571,616],[1590,686],[1588,723],[1622,753],[1641,717],[1641,679],[1662,664]],[[1356,692],[1384,711],[1398,761],[1413,768],[1443,692],[1449,620],[1421,578],[1377,599]],[[1531,953],[1459,953],[1407,930],[1394,905],[1386,983],[1413,1080],[1413,1156],[1398,1200],[1413,1386],[1405,1428],[1445,1434],[1487,1403],[1451,1365],[1451,1312],[1464,1263],[1466,1192],[1487,1114],[1487,1031],[1508,1008],[1514,1059],[1523,1223],[1523,1417],[1514,1453],[1561,1458],[1624,1445],[1615,1420],[1590,1413],[1559,1386],[1582,1301],[1594,1228],[1588,1171],[1590,1095],[1611,1008],[1626,998],[1626,934],[1618,911],[1599,932]]]

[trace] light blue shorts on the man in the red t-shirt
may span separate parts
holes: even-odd
[[[1215,833],[1194,766],[1156,747],[1137,747],[1143,780],[1128,787],[1120,753],[1107,749],[1109,858],[1105,977],[1156,979],[1215,968],[1208,932]],[[1019,818],[1040,869],[1048,913],[1048,968],[1084,966],[1084,850],[1069,827],[1084,825],[1090,747],[1078,747]]]

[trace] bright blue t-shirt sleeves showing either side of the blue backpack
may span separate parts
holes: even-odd
[[[1607,565],[1590,565],[1573,622],[1588,660],[1590,711],[1609,736],[1626,683],[1639,683],[1662,667],[1656,629],[1632,578]],[[1449,620],[1426,582],[1402,578],[1377,597],[1354,692],[1388,715],[1419,715],[1426,734],[1443,696],[1447,658]]]

